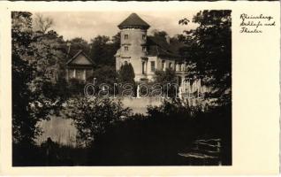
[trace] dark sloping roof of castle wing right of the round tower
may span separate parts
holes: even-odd
[[[148,36],[147,40],[147,50],[148,56],[158,56],[158,57],[168,57],[168,58],[178,58],[178,50],[184,46],[183,43],[177,40],[170,40],[168,43],[166,39],[160,36]]]

